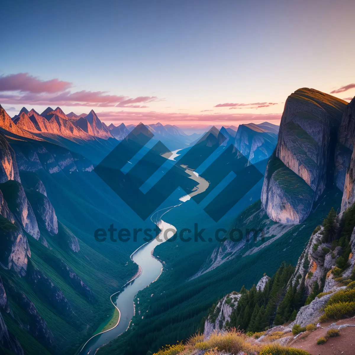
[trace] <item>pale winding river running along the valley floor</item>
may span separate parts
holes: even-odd
[[[176,154],[177,152],[178,151],[173,152],[175,154],[173,155],[173,159],[170,157],[171,160],[174,160],[174,158],[179,155]],[[209,185],[206,180],[201,178],[191,169],[187,168],[187,166],[183,167],[186,168],[185,171],[190,175],[190,179],[198,182],[198,185],[195,187],[195,190],[190,193],[190,195],[186,195],[180,198],[180,201],[182,201],[181,203],[189,200],[191,196],[205,191]],[[157,238],[147,242],[146,244],[143,244],[132,253],[131,260],[139,266],[139,272],[133,280],[122,287],[121,291],[111,296],[111,302],[120,312],[118,323],[115,327],[105,332],[96,334],[90,338],[84,344],[78,355],[94,355],[100,347],[117,338],[120,334],[127,330],[132,317],[135,314],[135,309],[133,306],[135,295],[138,291],[143,290],[149,284],[157,280],[163,271],[162,263],[153,257],[154,248],[165,241],[163,235],[167,237],[166,239],[168,239],[175,233],[171,230],[166,233],[166,230],[173,229],[176,231],[176,228],[173,225],[164,222],[162,217],[166,212],[169,212],[174,207],[180,206],[180,204],[161,209],[152,215],[152,222],[157,224],[162,232],[158,235]]]

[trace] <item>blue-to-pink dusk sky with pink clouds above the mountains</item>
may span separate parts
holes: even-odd
[[[287,96],[355,95],[355,1],[7,1],[0,104],[113,122],[278,124]]]

